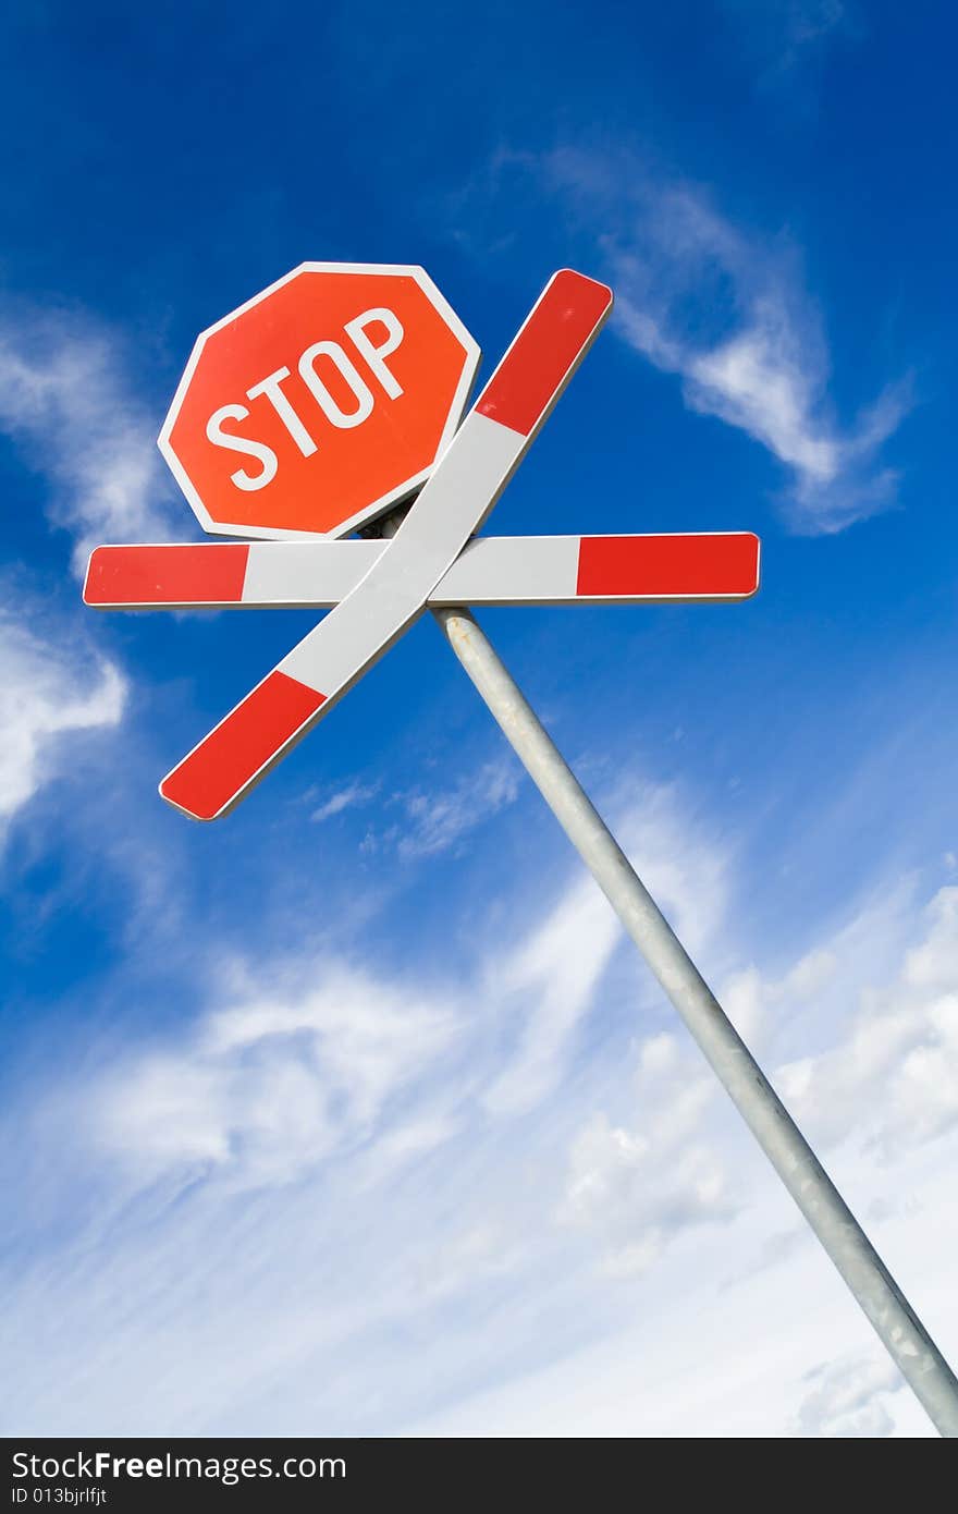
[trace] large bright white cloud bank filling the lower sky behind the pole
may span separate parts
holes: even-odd
[[[707,957],[728,945],[772,1064],[790,1037],[848,1057],[870,974],[928,1002],[958,981],[952,901],[922,921],[908,890],[776,972],[743,967],[732,857],[681,824],[669,790],[639,793],[625,833],[640,864]],[[11,1190],[18,1223],[35,1214],[45,1235],[56,1214],[58,1241],[5,1284],[8,1429],[926,1434],[866,1361],[866,1322],[698,1052],[658,1028],[634,955],[613,964],[614,922],[583,924],[589,908],[571,861],[504,957],[453,990],[328,952],[222,987],[210,961],[216,999],[192,1028],[88,1046],[82,1081],[32,1098],[29,1204]],[[947,1325],[953,1145],[946,1129],[897,1145],[890,1184],[860,1139],[882,1076],[846,1104],[841,1185]],[[48,1161],[65,1131],[68,1163]],[[879,1208],[890,1192],[910,1207]]]

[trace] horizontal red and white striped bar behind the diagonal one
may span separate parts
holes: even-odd
[[[83,600],[98,609],[325,609],[389,542],[97,547]],[[758,589],[751,531],[643,536],[478,536],[428,604],[617,604],[748,600]]]

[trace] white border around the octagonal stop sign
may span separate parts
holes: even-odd
[[[256,527],[232,525],[227,522],[213,521],[209,510],[203,504],[203,500],[200,498],[197,489],[194,488],[189,474],[183,468],[183,463],[173,450],[173,444],[170,441],[173,427],[176,425],[176,421],[179,418],[183,400],[186,398],[186,391],[189,389],[192,375],[197,369],[197,363],[200,362],[200,356],[203,353],[207,339],[213,336],[215,332],[222,330],[224,326],[229,326],[232,321],[236,321],[241,315],[245,315],[247,310],[251,310],[254,306],[260,304],[271,294],[275,294],[275,291],[281,289],[283,285],[292,283],[292,280],[298,279],[300,274],[383,274],[390,279],[415,279],[415,282],[419,285],[430,304],[439,312],[445,324],[449,327],[456,339],[462,342],[465,350],[463,371],[459,385],[456,388],[456,394],[453,395],[453,401],[449,404],[449,413],[442,428],[442,436],[439,438],[439,447],[436,448],[436,454],[427,468],[422,468],[418,474],[415,474],[415,477],[407,478],[404,483],[397,484],[395,489],[390,489],[390,492],[384,494],[380,500],[374,500],[362,510],[357,510],[356,515],[350,516],[348,521],[344,521],[341,525],[337,525],[334,531],[292,531],[272,525],[256,525]],[[351,531],[356,531],[360,525],[368,525],[377,516],[384,515],[386,510],[390,510],[393,506],[400,504],[403,500],[407,500],[412,494],[415,494],[416,489],[422,488],[422,484],[431,474],[433,468],[436,466],[436,462],[439,460],[448,444],[453,441],[453,436],[459,428],[459,422],[462,421],[463,410],[466,409],[466,403],[472,391],[480,357],[481,357],[481,350],[478,342],[475,341],[472,333],[466,329],[466,326],[460,321],[460,318],[457,316],[456,310],[445,298],[445,295],[440,294],[437,286],[427,274],[425,268],[421,268],[418,263],[312,263],[312,262],[298,263],[288,274],[283,274],[281,279],[277,279],[275,283],[271,283],[266,289],[260,289],[260,292],[253,295],[251,300],[247,300],[245,304],[238,306],[235,310],[230,310],[229,315],[224,315],[221,321],[216,321],[213,326],[207,326],[206,330],[200,332],[189,354],[186,368],[183,369],[183,377],[180,378],[177,391],[170,404],[166,419],[163,421],[160,433],[156,439],[156,445],[163,454],[163,459],[166,460],[170,471],[173,472],[173,477],[176,478],[180,489],[186,495],[186,500],[189,501],[189,506],[194,515],[197,516],[200,525],[210,536],[241,536],[245,539],[253,537],[253,539],[285,540],[285,542],[295,539],[316,540],[316,537],[334,539],[339,536],[348,536]]]

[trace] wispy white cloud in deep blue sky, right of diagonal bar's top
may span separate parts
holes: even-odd
[[[683,378],[690,409],[785,465],[796,530],[837,531],[894,500],[879,453],[907,388],[887,386],[849,425],[835,419],[822,318],[784,248],[748,241],[696,189],[648,186],[607,254],[624,338]]]

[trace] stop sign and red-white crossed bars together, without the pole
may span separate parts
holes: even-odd
[[[459,424],[478,347],[421,268],[304,263],[198,341],[160,450],[232,545],[98,547],[100,609],[333,606],[160,783],[226,815],[428,607],[743,600],[749,531],[475,537],[611,309],[554,274]],[[387,540],[336,540],[419,491]]]

